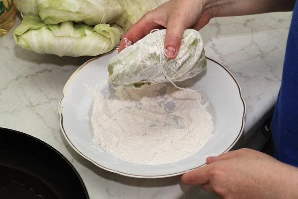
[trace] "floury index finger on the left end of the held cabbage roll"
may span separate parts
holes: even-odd
[[[118,53],[120,53],[124,48],[129,45],[134,44],[138,40],[145,37],[150,33],[153,29],[160,29],[163,26],[157,23],[156,21],[162,21],[161,19],[157,20],[157,16],[155,19],[151,17],[151,13],[146,13],[137,23],[135,23],[122,37],[121,42],[119,44]],[[160,15],[158,17],[163,17]]]

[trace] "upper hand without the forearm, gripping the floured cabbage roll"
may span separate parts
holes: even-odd
[[[170,0],[147,12],[122,37],[121,52],[128,44],[143,38],[153,29],[167,28],[164,49],[167,58],[174,59],[185,29],[199,30],[216,14],[205,6],[205,0]]]

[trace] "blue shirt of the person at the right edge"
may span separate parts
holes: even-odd
[[[272,125],[275,157],[298,167],[298,1],[288,37],[282,85]]]

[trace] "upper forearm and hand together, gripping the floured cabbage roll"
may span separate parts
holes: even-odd
[[[135,43],[152,29],[167,28],[164,49],[169,59],[178,53],[185,29],[200,30],[211,18],[275,11],[290,11],[296,0],[170,0],[147,12],[124,34],[119,52],[127,43]]]

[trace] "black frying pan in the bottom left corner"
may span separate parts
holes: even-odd
[[[0,199],[89,199],[73,165],[30,135],[0,128]]]

